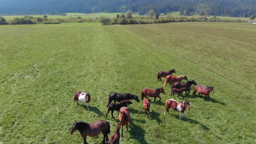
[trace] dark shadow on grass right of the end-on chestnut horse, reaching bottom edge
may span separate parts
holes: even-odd
[[[136,139],[139,141],[139,143],[142,144],[147,144],[148,142],[145,140],[145,130],[133,123],[132,121],[130,122],[131,124],[131,130],[129,131],[132,139]]]

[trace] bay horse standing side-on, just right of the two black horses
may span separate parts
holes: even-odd
[[[156,89],[143,88],[141,91],[141,99],[143,100],[143,97],[146,97],[147,99],[148,97],[154,97],[154,101],[155,101],[155,99],[158,97],[159,101],[161,101],[161,98],[159,97],[160,93],[165,94],[164,88],[162,87],[156,88]]]

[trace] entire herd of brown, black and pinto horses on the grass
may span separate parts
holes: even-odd
[[[171,95],[174,96],[175,93],[181,95],[183,99],[183,92],[185,91],[185,94],[190,93],[190,87],[191,85],[194,86],[194,91],[193,91],[193,96],[195,95],[196,92],[200,94],[203,94],[204,100],[206,100],[206,96],[209,97],[210,92],[214,93],[214,88],[212,86],[208,87],[203,87],[201,85],[197,85],[197,83],[194,80],[188,80],[187,76],[181,75],[181,76],[173,76],[172,74],[176,73],[174,69],[170,71],[159,71],[158,76],[157,76],[157,81],[161,81],[161,77],[165,77],[165,83],[164,86],[167,85],[167,83],[170,83],[171,85]],[[187,82],[182,82],[182,80],[187,80]],[[164,88],[156,88],[156,89],[149,89],[149,88],[143,88],[141,91],[141,99],[143,100],[143,109],[146,112],[147,117],[149,117],[149,112],[150,112],[150,102],[151,100],[148,99],[148,97],[154,97],[154,101],[156,98],[159,98],[159,101],[161,101],[161,98],[159,97],[160,93],[165,94]],[[144,98],[145,97],[145,98]],[[109,139],[109,143],[119,143],[120,140],[120,128],[121,128],[121,136],[123,137],[123,127],[126,125],[126,130],[128,130],[128,124],[131,120],[130,117],[130,112],[129,108],[127,108],[128,105],[132,104],[130,101],[131,99],[136,100],[139,102],[139,98],[137,95],[131,94],[131,93],[110,93],[108,95],[108,110],[106,113],[106,118],[108,116],[108,113],[111,111],[111,115],[113,118],[114,111],[118,111],[118,118],[120,122],[117,122],[117,129],[115,130],[114,134],[112,137]],[[81,101],[84,104],[86,104],[87,109],[89,110],[89,104],[90,104],[90,94],[89,93],[84,93],[82,91],[75,92],[75,96],[73,101],[78,104],[78,101]],[[114,101],[114,103],[112,103]],[[119,102],[119,103],[117,103]],[[169,110],[172,108],[175,111],[179,111],[179,119],[182,119],[184,117],[184,111],[186,107],[188,110],[190,109],[189,107],[190,103],[189,101],[182,101],[179,103],[178,101],[174,99],[168,99],[166,100],[165,104],[165,115]],[[86,143],[86,137],[87,136],[97,136],[98,134],[102,133],[103,134],[103,141],[102,143],[105,143],[108,141],[108,134],[110,133],[110,124],[107,121],[97,121],[94,123],[85,123],[85,122],[74,122],[71,128],[70,133],[73,134],[75,130],[78,130],[80,134],[82,135],[84,139],[84,143]]]

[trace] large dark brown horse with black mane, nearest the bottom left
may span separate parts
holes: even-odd
[[[75,130],[78,130],[80,134],[83,136],[84,143],[86,144],[86,137],[95,137],[98,134],[103,134],[103,141],[108,141],[108,134],[110,133],[110,124],[107,121],[97,121],[91,124],[85,122],[74,122],[71,128],[70,133],[73,134]]]

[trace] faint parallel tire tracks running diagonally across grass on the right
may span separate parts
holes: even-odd
[[[129,31],[128,29],[124,28],[123,26],[120,26],[120,25],[118,25],[118,26],[119,26],[120,28],[124,29],[127,33],[130,33],[131,35],[136,35],[136,37],[138,37],[138,38],[140,38],[140,39],[143,39],[143,40],[145,40],[145,41],[148,41],[148,42],[151,43],[152,45],[159,46],[159,47],[161,47],[162,49],[165,49],[165,50],[166,50],[165,47],[163,47],[163,46],[161,46],[161,45],[155,43],[154,41],[149,40],[149,39],[144,38],[144,37],[141,37],[141,36],[139,36],[139,35],[137,35],[137,34],[131,32],[131,31]],[[167,59],[167,58],[162,58],[162,57],[159,55],[159,53],[156,53],[156,52],[154,52],[154,51],[152,51],[152,50],[149,50],[148,48],[145,48],[145,49],[146,49],[147,51],[149,51],[150,53],[152,53],[154,56],[159,57],[160,59],[162,59],[162,61],[164,61],[164,62],[166,62],[166,63],[168,64],[168,59]],[[175,53],[175,54],[176,54],[177,56],[179,56],[179,57],[182,57],[182,58],[184,58],[184,59],[187,59],[188,61],[190,61],[190,62],[192,62],[192,63],[201,65],[203,68],[206,68],[206,69],[208,69],[208,70],[210,70],[210,71],[213,71],[214,73],[217,73],[217,74],[219,74],[220,76],[224,76],[224,77],[226,77],[226,78],[232,80],[233,82],[235,82],[235,80],[231,79],[231,78],[228,77],[228,76],[225,76],[225,75],[223,75],[223,74],[220,74],[220,73],[218,73],[217,71],[214,71],[214,70],[212,70],[212,69],[210,69],[210,68],[207,68],[207,67],[205,67],[204,65],[199,64],[199,63],[197,63],[197,62],[195,62],[195,61],[193,61],[193,60],[191,60],[191,59],[188,59],[188,58],[185,58],[185,57],[183,57],[183,56],[180,56],[180,55],[178,55],[178,53],[176,53],[176,52],[173,52],[173,53]],[[176,65],[176,64],[175,64],[175,65]],[[207,82],[205,82],[205,81],[199,79],[199,77],[197,77],[197,76],[191,74],[189,71],[186,71],[186,70],[182,69],[182,68],[179,67],[178,65],[176,65],[176,67],[178,67],[179,69],[181,69],[182,71],[184,71],[184,72],[186,72],[186,73],[189,73],[190,75],[192,75],[193,77],[195,77],[197,80],[200,80],[201,82],[203,82],[203,83],[205,83],[206,85],[208,85]],[[250,89],[252,89],[252,88],[250,88]],[[254,89],[252,89],[252,90],[254,91]],[[216,90],[216,91],[217,91],[218,93],[222,94],[222,92],[220,92],[220,91],[218,91],[218,90]],[[216,95],[218,95],[218,94],[216,94]],[[224,96],[224,94],[222,94],[222,95]],[[223,99],[223,100],[224,100],[224,99]],[[243,111],[237,109],[235,106],[233,106],[232,104],[228,103],[227,100],[224,100],[224,101],[225,101],[226,104],[230,105],[233,109],[235,109],[236,111],[238,111],[239,113],[241,113],[243,116],[246,116],[248,119],[251,119],[252,122],[256,123],[256,121],[254,121],[254,119],[252,119],[251,117],[249,117],[249,116],[247,115],[247,113],[245,113],[245,112],[243,112]]]

